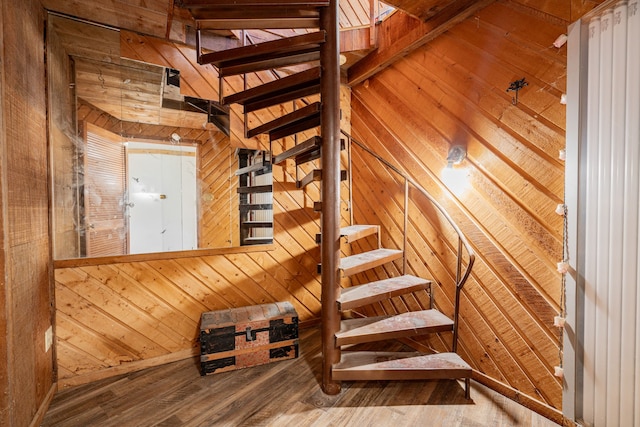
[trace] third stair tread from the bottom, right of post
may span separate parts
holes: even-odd
[[[364,285],[352,286],[342,289],[338,298],[338,307],[340,310],[351,310],[399,295],[428,289],[430,285],[430,280],[407,274]]]

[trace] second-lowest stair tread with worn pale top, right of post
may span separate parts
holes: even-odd
[[[347,319],[340,323],[336,345],[360,344],[453,330],[453,320],[438,310],[409,311],[395,316]]]

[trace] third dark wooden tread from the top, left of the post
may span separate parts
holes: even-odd
[[[314,67],[290,76],[225,96],[223,104],[240,104],[244,112],[282,104],[320,92],[320,67]]]

